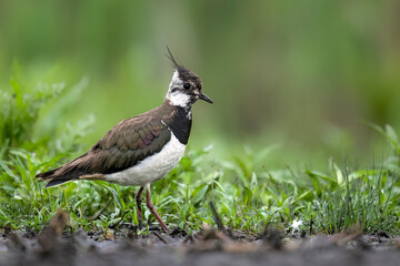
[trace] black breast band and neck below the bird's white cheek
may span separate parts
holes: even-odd
[[[186,145],[189,141],[192,124],[191,106],[174,106],[166,99],[161,108],[164,113],[162,121],[171,130],[179,142]]]

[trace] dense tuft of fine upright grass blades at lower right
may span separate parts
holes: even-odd
[[[336,188],[313,201],[318,231],[330,234],[357,225],[362,232],[398,232],[400,194],[396,174],[381,167],[349,172],[333,164]]]

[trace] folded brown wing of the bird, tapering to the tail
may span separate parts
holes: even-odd
[[[161,151],[170,139],[171,133],[160,120],[147,116],[131,117],[107,132],[86,154],[37,177],[41,177],[41,181],[51,181],[47,186],[52,186],[82,175],[123,171],[146,156]]]

